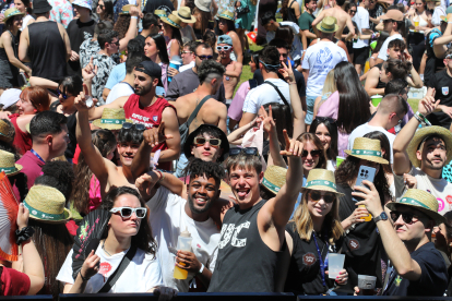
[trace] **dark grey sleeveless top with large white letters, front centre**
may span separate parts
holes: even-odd
[[[261,238],[258,214],[266,201],[247,210],[238,205],[223,219],[218,256],[207,292],[273,292],[279,254]]]

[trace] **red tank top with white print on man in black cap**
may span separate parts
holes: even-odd
[[[140,106],[140,95],[132,94],[124,104],[126,118],[133,120],[133,123],[142,123],[146,129],[158,127],[162,122],[162,112],[165,108],[171,107],[175,111],[176,108],[168,104],[165,98],[157,98],[157,100],[143,108]],[[168,149],[168,145],[165,143],[157,145],[152,149],[155,153],[157,149]],[[170,170],[171,162],[159,162],[159,169]]]

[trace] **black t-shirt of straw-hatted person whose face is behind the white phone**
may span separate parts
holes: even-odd
[[[341,221],[349,217],[356,209],[356,203],[352,200],[352,188],[337,184],[337,191],[344,193],[340,197]],[[372,220],[355,224],[346,231],[341,253],[345,254],[344,266],[348,272],[348,281],[344,288],[353,291],[358,285],[358,275],[377,277],[377,288],[382,287],[383,275],[381,267],[381,254],[384,252],[377,225]]]

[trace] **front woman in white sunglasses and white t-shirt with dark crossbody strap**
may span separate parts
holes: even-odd
[[[156,244],[146,218],[146,206],[136,190],[115,188],[103,200],[102,209],[111,213],[104,238],[90,253],[75,280],[72,278],[72,251],[57,279],[64,293],[96,293],[115,273],[131,246],[136,252],[109,292],[151,292],[162,287],[163,278]]]

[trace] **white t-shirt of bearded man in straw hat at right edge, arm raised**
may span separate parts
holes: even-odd
[[[425,173],[420,168],[412,167],[408,172],[417,180],[417,189],[431,193],[438,201],[438,213],[444,215],[452,210],[452,183],[445,179],[435,179]],[[399,200],[405,192],[403,176],[394,173],[395,197]]]

